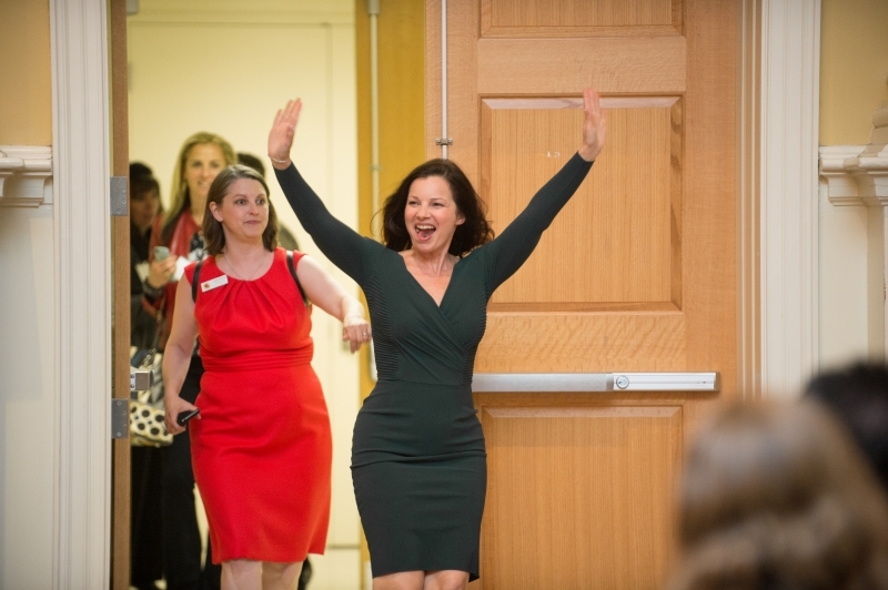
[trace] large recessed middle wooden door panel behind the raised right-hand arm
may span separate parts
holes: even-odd
[[[547,309],[589,303],[594,309],[595,303],[670,301],[670,109],[643,104],[606,111],[612,141],[596,163],[601,172],[584,182],[493,303],[547,302]],[[583,113],[483,108],[485,116],[492,121],[491,141],[482,138],[482,176],[495,172],[482,186],[500,233],[573,156]]]

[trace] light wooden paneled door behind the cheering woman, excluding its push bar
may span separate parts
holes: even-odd
[[[488,452],[485,590],[659,588],[675,482],[707,406],[737,395],[730,0],[450,0],[450,157],[502,231],[579,144],[607,145],[495,294],[476,373],[717,372],[720,391],[476,394]],[[428,154],[441,3],[428,0]]]

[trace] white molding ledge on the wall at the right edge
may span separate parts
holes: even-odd
[[[866,145],[824,145],[820,177],[834,205],[888,206],[888,106],[872,113]]]

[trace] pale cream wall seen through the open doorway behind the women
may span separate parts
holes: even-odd
[[[144,162],[169,203],[174,160],[196,131],[229,140],[265,162],[272,202],[303,251],[355,294],[316,250],[280,192],[266,159],[276,110],[304,103],[293,160],[343,222],[356,225],[356,96],[352,0],[141,0],[129,19],[130,160]],[[357,357],[337,322],[313,314],[314,368],[333,423],[333,506],[329,542],[357,546],[349,460],[359,405]]]

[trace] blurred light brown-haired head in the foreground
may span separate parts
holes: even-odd
[[[670,590],[888,589],[888,502],[816,404],[734,405],[692,446]]]

